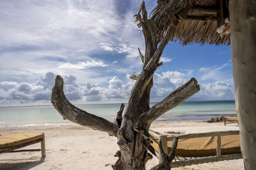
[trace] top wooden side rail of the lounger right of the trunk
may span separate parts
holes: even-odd
[[[179,139],[188,139],[188,138],[202,138],[208,136],[225,136],[225,135],[234,135],[239,134],[239,131],[218,131],[218,132],[206,132],[206,133],[195,133],[195,134],[184,134],[179,135]],[[175,136],[168,136],[167,140],[172,141]]]

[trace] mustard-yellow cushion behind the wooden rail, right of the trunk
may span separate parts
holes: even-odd
[[[179,139],[176,155],[180,157],[208,157],[216,155],[217,136]],[[158,152],[158,141],[152,146]],[[172,150],[172,141],[167,142],[168,154]],[[239,135],[221,136],[221,155],[241,153]]]

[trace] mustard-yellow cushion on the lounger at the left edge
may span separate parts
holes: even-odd
[[[0,148],[22,145],[44,138],[44,134],[3,134],[0,136]]]

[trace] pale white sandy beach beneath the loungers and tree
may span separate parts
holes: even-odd
[[[151,129],[158,132],[180,133],[238,130],[237,124],[223,122],[155,122]],[[80,125],[41,125],[30,127],[1,127],[0,134],[45,133],[46,157],[40,152],[2,153],[0,169],[112,169],[118,150],[116,138],[106,132],[94,131]],[[40,143],[26,148],[40,148]],[[155,166],[154,157],[147,169]],[[243,169],[243,159],[225,160],[208,164],[178,167],[173,169]]]

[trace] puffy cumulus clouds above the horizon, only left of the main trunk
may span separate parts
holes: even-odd
[[[1,104],[49,103],[56,74],[46,73],[35,83],[0,82]],[[68,100],[74,103],[116,103],[127,101],[134,81],[121,81],[117,76],[110,78],[105,87],[92,83],[77,83],[76,76],[63,76],[64,92]],[[8,89],[4,88],[8,86]]]

